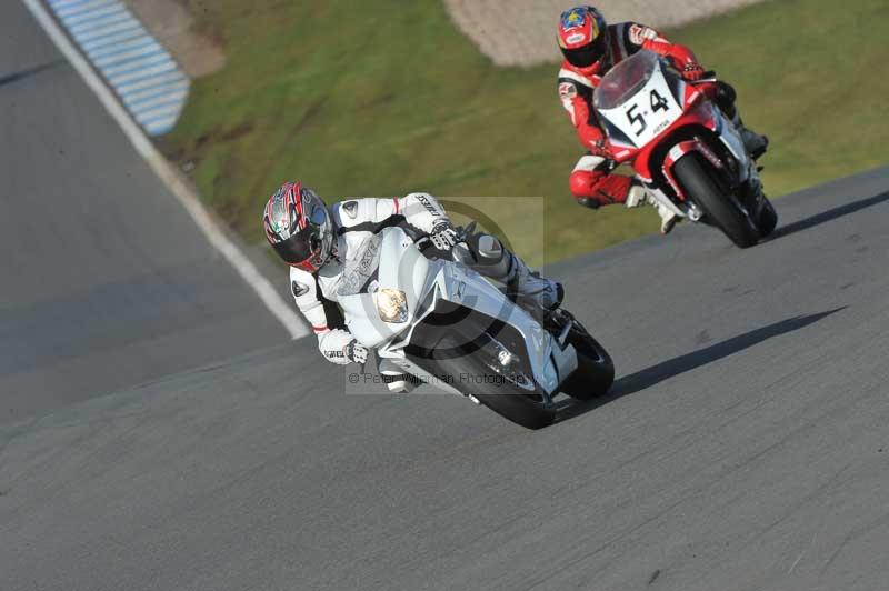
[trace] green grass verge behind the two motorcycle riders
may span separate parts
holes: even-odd
[[[545,196],[537,263],[657,230],[649,208],[572,202],[582,149],[556,66],[493,67],[438,1],[190,3],[229,63],[197,81],[162,148],[197,164],[203,198],[251,242],[268,194],[293,178],[328,200]],[[746,122],[771,137],[763,178],[780,196],[889,160],[887,30],[889,0],[780,0],[668,33],[733,83]],[[521,229],[539,216],[500,214],[520,251],[538,250]]]

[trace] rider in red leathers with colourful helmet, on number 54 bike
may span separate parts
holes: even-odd
[[[672,43],[655,29],[637,22],[607,24],[599,10],[590,6],[562,12],[558,38],[565,56],[559,70],[559,98],[580,143],[588,150],[571,172],[571,193],[578,203],[593,209],[611,203],[625,203],[628,208],[653,204],[661,217],[661,232],[670,232],[678,219],[676,214],[649,199],[639,181],[611,173],[616,163],[596,120],[592,92],[611,67],[642,49],[668,58],[690,81],[700,80],[703,68],[689,48]],[[735,89],[720,81],[702,83],[700,90],[732,120],[753,158],[765,153],[768,138],[743,127],[735,107]]]

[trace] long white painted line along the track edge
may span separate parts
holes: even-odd
[[[238,271],[238,274],[253,288],[259,299],[266,308],[283,324],[287,332],[293,339],[299,339],[309,334],[308,327],[300,320],[293,311],[293,305],[288,304],[281,294],[272,287],[266,277],[259,272],[252,262],[229,240],[226,234],[213,222],[207,213],[203,204],[198,197],[182,182],[178,172],[167,161],[166,158],[154,148],[154,144],[146,137],[139,126],[130,118],[129,113],[121,107],[117,98],[104,86],[104,82],[96,74],[92,67],[81,56],[68,40],[56,20],[47,12],[40,0],[22,0],[28,10],[31,11],[37,22],[43,28],[47,36],[52,40],[59,51],[71,62],[74,70],[80,74],[87,86],[96,93],[99,102],[102,103],[108,114],[118,122],[120,129],[129,138],[136,151],[141,156],[170,189],[177,200],[186,208],[191,219],[198,224],[207,240],[216,247],[219,252]]]

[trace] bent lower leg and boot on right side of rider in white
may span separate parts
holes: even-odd
[[[490,234],[467,237],[465,243],[455,247],[455,258],[505,284],[507,296],[535,317],[557,309],[565,299],[561,283],[528,269],[525,261]]]

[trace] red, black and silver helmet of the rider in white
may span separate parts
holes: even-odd
[[[266,238],[290,266],[317,272],[333,252],[333,222],[321,198],[299,182],[286,182],[262,216]]]

